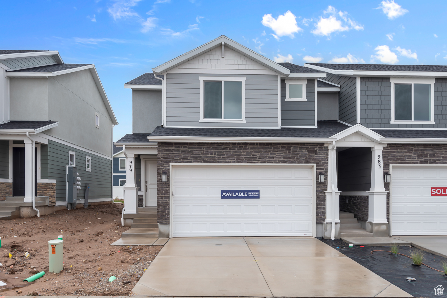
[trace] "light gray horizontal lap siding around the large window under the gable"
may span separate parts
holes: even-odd
[[[246,123],[199,122],[200,76],[246,78]],[[166,75],[166,125],[278,127],[278,76],[168,73]]]

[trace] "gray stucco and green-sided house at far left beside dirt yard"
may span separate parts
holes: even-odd
[[[0,73],[0,216],[75,208],[87,184],[90,204],[110,203],[118,123],[95,66],[0,50]]]

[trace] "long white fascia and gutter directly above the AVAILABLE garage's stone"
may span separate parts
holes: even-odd
[[[330,143],[335,138],[246,138],[246,137],[173,137],[148,136],[149,141],[156,142],[200,142],[200,143]]]

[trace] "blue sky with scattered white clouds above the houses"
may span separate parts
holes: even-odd
[[[277,62],[447,64],[447,1],[6,1],[2,49],[95,63],[132,132],[123,84],[220,35]]]

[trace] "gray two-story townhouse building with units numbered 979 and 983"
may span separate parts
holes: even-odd
[[[220,36],[152,71],[124,84],[127,225],[142,197],[160,237],[447,235],[447,66],[302,67]]]

